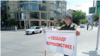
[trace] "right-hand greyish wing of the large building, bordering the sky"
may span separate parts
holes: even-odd
[[[53,25],[59,24],[59,21],[66,15],[66,6],[65,0],[50,0],[50,20]]]

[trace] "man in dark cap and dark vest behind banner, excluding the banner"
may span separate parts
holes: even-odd
[[[78,29],[78,26],[76,24],[72,23],[72,17],[70,15],[66,15],[64,19],[66,24],[63,25],[59,30],[76,30],[76,36],[79,36],[80,30]]]

